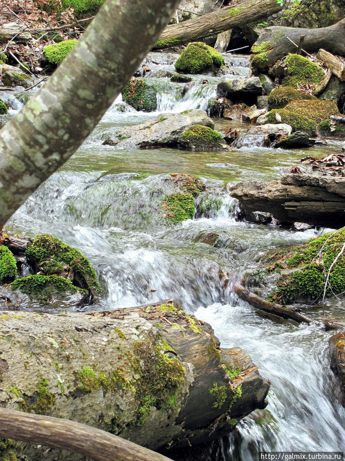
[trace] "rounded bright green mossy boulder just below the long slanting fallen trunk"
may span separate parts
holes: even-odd
[[[221,67],[224,64],[223,56],[214,48],[195,41],[185,48],[175,62],[175,69],[178,72],[197,74],[205,69]]]

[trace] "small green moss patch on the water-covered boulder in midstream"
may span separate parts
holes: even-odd
[[[170,194],[162,204],[165,219],[177,224],[186,219],[193,219],[195,212],[194,197],[182,192]]]

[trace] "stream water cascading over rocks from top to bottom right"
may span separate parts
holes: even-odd
[[[184,84],[164,77],[172,73],[174,59],[174,54],[151,53],[145,61],[151,69],[145,78],[157,92],[157,112],[206,109],[221,77],[193,76],[195,84],[183,89]],[[226,60],[229,75],[248,75],[245,56],[227,55]],[[205,78],[208,82],[202,83]],[[13,113],[18,109],[13,107]],[[118,97],[78,152],[21,206],[7,229],[31,236],[51,233],[79,248],[105,290],[99,304],[88,309],[174,298],[209,322],[223,347],[248,350],[272,383],[268,406],[244,418],[218,442],[215,461],[254,460],[260,450],[344,450],[344,409],[329,368],[331,333],[259,316],[232,291],[233,283],[260,265],[268,250],[302,243],[321,231],[294,232],[239,221],[237,202],[229,197],[226,184],[277,178],[304,153],[252,142],[226,152],[127,152],[102,145],[109,128],[120,130],[157,112],[136,112]],[[236,125],[218,120],[216,128],[222,131],[231,124]],[[340,151],[339,145],[308,154],[330,151]],[[155,214],[159,197],[168,192],[168,173],[189,173],[207,185],[195,218],[173,227]],[[341,321],[344,306],[335,303],[327,313]]]

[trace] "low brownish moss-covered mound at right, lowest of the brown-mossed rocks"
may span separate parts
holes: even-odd
[[[335,102],[320,101],[319,99],[292,101],[287,104],[285,109],[308,117],[316,123],[329,119],[330,115],[341,115]]]

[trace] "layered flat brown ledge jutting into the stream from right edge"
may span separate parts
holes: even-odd
[[[345,225],[345,178],[287,174],[280,181],[239,182],[229,188],[246,212],[267,212],[280,222]]]

